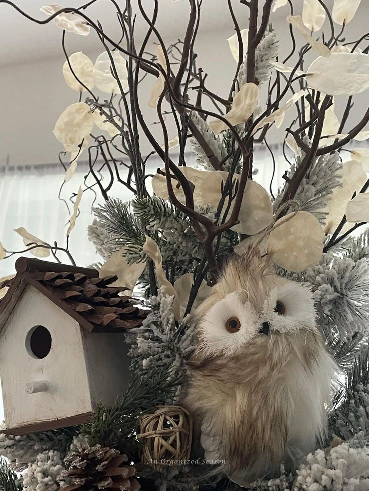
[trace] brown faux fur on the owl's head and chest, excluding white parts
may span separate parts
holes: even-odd
[[[191,322],[201,329],[209,309],[235,291],[258,310],[275,283],[269,259],[256,249],[235,256]],[[251,482],[278,472],[294,418],[291,373],[308,379],[323,353],[328,356],[318,331],[273,331],[264,337],[257,336],[232,356],[209,356],[198,346],[188,363],[190,381],[181,401],[193,413],[197,433],[210,421],[223,469],[239,483],[240,474]]]

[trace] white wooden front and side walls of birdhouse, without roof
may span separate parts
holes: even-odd
[[[27,334],[37,325],[52,338],[38,359]],[[48,298],[27,286],[0,334],[0,374],[7,428],[61,419],[110,406],[129,380],[123,333],[89,333]],[[46,381],[48,389],[27,393],[26,384]]]

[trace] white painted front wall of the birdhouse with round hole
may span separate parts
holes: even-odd
[[[45,326],[52,345],[43,359],[31,356],[26,337]],[[91,411],[79,324],[32,286],[27,286],[0,335],[0,373],[7,427]],[[46,380],[46,392],[27,394],[29,382]]]

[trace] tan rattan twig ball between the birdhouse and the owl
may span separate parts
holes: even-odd
[[[192,418],[180,406],[158,407],[140,418],[138,439],[143,443],[143,463],[162,472],[164,467],[181,466],[190,457]]]

